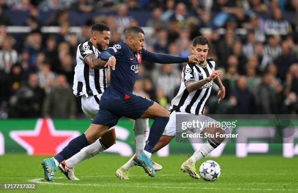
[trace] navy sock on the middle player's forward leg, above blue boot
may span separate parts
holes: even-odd
[[[168,124],[168,120],[168,117],[155,118],[150,128],[149,137],[144,148],[145,151],[152,153],[153,147],[165,131],[166,125]]]

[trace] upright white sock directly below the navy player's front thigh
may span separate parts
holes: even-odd
[[[133,132],[135,137],[135,155],[139,155],[145,145],[149,130],[149,119],[137,119],[133,124]]]

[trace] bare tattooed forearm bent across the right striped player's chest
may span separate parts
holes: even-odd
[[[185,87],[188,92],[195,91],[201,87],[203,87],[207,82],[210,82],[214,79],[217,79],[220,77],[220,75],[223,74],[221,70],[214,70],[210,76],[203,80],[195,81],[195,80],[189,80],[185,82]]]

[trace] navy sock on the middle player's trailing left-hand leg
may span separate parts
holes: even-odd
[[[84,147],[88,146],[88,140],[83,133],[82,135],[76,137],[75,139],[71,140],[63,150],[58,153],[54,158],[61,163],[64,159],[71,158],[76,153],[81,151]]]

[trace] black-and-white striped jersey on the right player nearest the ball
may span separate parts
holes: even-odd
[[[171,102],[170,110],[203,115],[206,101],[210,95],[213,81],[207,82],[202,88],[188,92],[185,83],[190,80],[203,80],[215,69],[215,62],[207,58],[206,66],[199,64],[186,64],[182,71],[182,81],[179,92]]]

